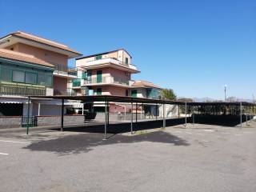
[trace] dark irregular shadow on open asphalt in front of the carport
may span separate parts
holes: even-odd
[[[110,135],[108,134],[108,136]],[[178,138],[173,134],[168,134],[163,131],[156,131],[148,134],[136,134],[133,136],[117,134],[114,137],[109,137],[106,141],[103,141],[102,134],[98,133],[69,135],[62,138],[33,142],[29,146],[23,147],[23,149],[48,151],[59,155],[66,155],[86,153],[93,150],[96,146],[135,142],[159,142],[170,143],[174,146],[190,146],[190,144],[183,138]]]

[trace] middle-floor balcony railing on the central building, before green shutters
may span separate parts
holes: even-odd
[[[84,86],[90,85],[90,84],[101,84],[101,83],[129,86],[129,80],[127,80],[126,78],[118,78],[113,76],[106,76],[102,78],[91,78],[89,80],[85,80]]]

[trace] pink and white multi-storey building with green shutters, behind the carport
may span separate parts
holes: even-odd
[[[76,67],[78,78],[69,83],[72,94],[158,98],[161,89],[151,82],[131,79],[132,74],[140,71],[132,64],[131,55],[124,49],[76,58]],[[154,107],[149,105],[145,109],[153,111]],[[104,107],[101,103],[94,103],[94,110],[101,111]],[[140,106],[138,110],[144,109]],[[130,111],[130,105],[110,103],[110,112],[125,111]]]

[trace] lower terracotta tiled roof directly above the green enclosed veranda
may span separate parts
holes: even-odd
[[[50,64],[50,62],[45,62],[40,58],[35,58],[33,55],[22,54],[13,50],[6,50],[1,48],[0,48],[0,58],[7,58],[11,60],[16,60],[19,62],[30,62],[36,65],[54,67],[54,65]]]

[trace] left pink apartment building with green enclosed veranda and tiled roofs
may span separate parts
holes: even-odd
[[[0,38],[0,115],[26,114],[27,95],[67,94],[77,78],[68,59],[82,54],[62,43],[22,31]],[[59,114],[57,103],[34,100],[32,114]],[[14,110],[15,109],[15,110]]]

